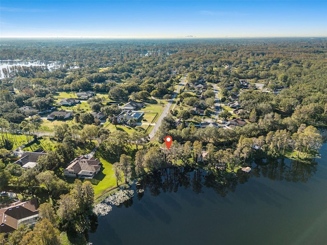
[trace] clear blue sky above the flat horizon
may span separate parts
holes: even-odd
[[[0,37],[327,36],[327,1],[5,1]]]

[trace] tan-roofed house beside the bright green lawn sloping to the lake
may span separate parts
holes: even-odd
[[[92,179],[99,173],[101,162],[99,159],[79,156],[71,161],[63,170],[63,174],[68,177]]]

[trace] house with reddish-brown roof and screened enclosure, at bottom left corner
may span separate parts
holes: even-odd
[[[0,233],[17,230],[21,225],[35,225],[39,217],[37,199],[16,202],[0,209]]]

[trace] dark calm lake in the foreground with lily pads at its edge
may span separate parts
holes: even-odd
[[[100,216],[93,244],[327,244],[327,144],[321,159],[253,163],[248,174],[172,169]]]

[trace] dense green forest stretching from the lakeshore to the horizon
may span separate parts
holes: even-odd
[[[46,203],[40,209],[45,217],[42,222],[55,220],[54,239],[60,240],[60,231],[68,237],[78,237],[78,242],[86,242],[87,231],[94,222],[90,211],[94,206],[93,187],[87,181],[68,184],[61,173],[79,155],[77,149],[97,146],[97,156],[110,162],[119,185],[168,167],[205,169],[216,180],[234,178],[238,169],[253,160],[286,156],[310,164],[325,139],[325,38],[3,38],[0,44],[3,61],[60,64],[57,69],[4,67],[1,70],[4,78],[0,80],[0,187],[18,192],[27,190],[24,200],[33,196]],[[104,112],[116,126],[116,117],[122,109],[111,102],[151,104],[156,100],[170,100],[182,76],[186,77],[186,84],[177,96],[177,107],[162,120],[154,140],[150,141],[148,132],[141,129],[132,133],[108,130],[88,111],[78,108],[74,120],[54,126],[50,138],[55,144],[44,149],[48,155],[38,160],[36,168],[25,171],[12,164],[10,151],[14,145],[18,147],[17,135],[25,135],[27,141],[38,141],[39,134],[45,132],[40,117],[55,106],[59,93],[91,90],[105,96],[91,97],[87,105],[92,111]],[[247,81],[248,85],[245,87],[240,81]],[[207,86],[203,100],[192,92],[199,84]],[[262,88],[258,89],[256,84]],[[213,86],[219,87],[220,103],[225,103],[219,116],[225,120],[242,117],[246,122],[244,127],[196,127],[204,117],[213,115]],[[227,103],[235,96],[241,109],[237,115],[226,110]],[[22,107],[30,109],[22,111]],[[194,107],[204,110],[203,117],[191,110]],[[169,151],[162,144],[167,135],[174,139]],[[83,195],[88,199],[82,201]],[[50,207],[46,206],[49,203]],[[78,212],[68,208],[72,203]],[[70,212],[69,216],[63,210]],[[0,240],[4,239],[2,244],[22,244],[32,239],[31,232],[42,236],[43,228],[36,228],[33,231],[21,228]],[[17,239],[19,236],[23,237],[21,241]],[[71,242],[77,241],[71,239]]]

